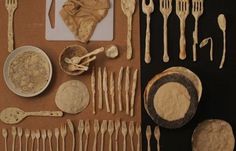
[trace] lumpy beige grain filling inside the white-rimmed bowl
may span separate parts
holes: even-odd
[[[50,77],[49,63],[38,52],[24,52],[11,62],[9,77],[17,91],[23,94],[37,93],[48,83]]]

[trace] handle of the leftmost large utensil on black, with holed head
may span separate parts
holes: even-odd
[[[150,55],[150,14],[147,14],[147,18],[146,18],[146,23],[147,23],[147,27],[146,27],[146,38],[145,38],[145,63],[150,63],[151,62],[151,55]]]

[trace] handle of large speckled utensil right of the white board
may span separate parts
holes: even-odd
[[[132,48],[132,16],[128,17],[128,32],[127,32],[127,59],[131,60],[133,55]]]

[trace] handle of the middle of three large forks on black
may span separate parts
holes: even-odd
[[[180,41],[179,41],[179,58],[186,59],[186,38],[185,38],[185,19],[180,19]]]

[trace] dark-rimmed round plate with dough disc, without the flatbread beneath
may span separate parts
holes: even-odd
[[[198,94],[194,84],[185,76],[177,73],[168,73],[161,78],[158,77],[157,80],[155,80],[155,78],[156,77],[151,80],[151,85],[150,83],[148,84],[148,91],[146,91],[146,100],[144,104],[148,114],[155,123],[162,127],[172,129],[184,126],[195,115],[198,106]],[[163,86],[165,87],[165,85],[167,85],[166,88],[168,88],[168,90],[166,90],[166,88],[163,89]],[[160,90],[162,91],[162,94],[158,94],[158,91]],[[166,92],[170,93],[168,94]],[[176,94],[178,95],[176,96]],[[157,95],[160,95],[159,99],[162,99],[162,103],[160,104],[164,106],[157,105]],[[178,97],[184,98],[185,100],[180,101]],[[169,103],[165,104],[163,101]],[[178,103],[180,103],[180,105],[178,105]],[[174,115],[175,113],[178,114]]]

